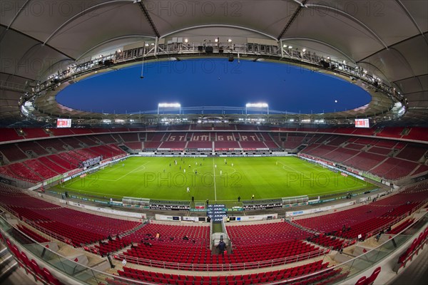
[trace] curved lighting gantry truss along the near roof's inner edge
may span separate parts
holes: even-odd
[[[279,44],[279,43],[278,43]],[[156,45],[152,48],[136,48],[133,50],[120,51],[112,53],[108,56],[103,56],[101,58],[93,58],[91,61],[86,61],[83,63],[75,63],[71,66],[67,66],[64,71],[58,71],[56,74],[49,76],[46,81],[37,84],[34,87],[34,91],[24,95],[21,103],[24,103],[26,100],[31,100],[34,98],[34,95],[44,95],[44,93],[49,92],[52,88],[58,86],[59,83],[64,83],[67,81],[72,81],[74,78],[78,78],[85,74],[91,73],[93,71],[98,71],[105,68],[110,68],[110,66],[118,66],[126,63],[134,63],[136,61],[144,61],[148,59],[154,59],[158,56],[163,57],[180,57],[180,56],[207,56],[205,51],[200,51],[198,46],[202,46],[203,43],[193,43],[186,44],[174,44],[174,45]],[[317,56],[311,54],[310,51],[301,52],[294,50],[286,50],[285,52],[280,52],[282,47],[280,46],[267,46],[263,51],[260,51],[255,48],[251,48],[252,44],[243,44],[235,45],[233,48],[228,50],[228,53],[233,53],[235,56],[253,56],[256,58],[262,58],[263,56],[269,58],[275,58],[277,60],[288,60],[292,63],[303,63],[312,68],[325,68],[325,64],[328,63],[328,66],[334,67],[331,70],[334,70],[335,73],[341,74],[342,76],[347,76],[353,79],[360,79],[367,83],[368,86],[372,86],[374,90],[382,90],[387,94],[389,98],[395,98],[397,101],[403,100],[403,96],[395,92],[395,89],[390,86],[390,83],[382,82],[379,78],[371,76],[367,71],[358,67],[350,66],[343,61],[337,59],[337,61],[332,58],[324,58],[322,56]],[[136,52],[138,50],[138,52]],[[220,53],[219,46],[214,47],[214,53],[210,56],[225,56],[223,53]]]

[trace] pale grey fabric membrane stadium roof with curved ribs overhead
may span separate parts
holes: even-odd
[[[171,36],[282,40],[354,61],[407,97],[403,119],[428,122],[428,1],[1,1],[0,118],[70,63]]]

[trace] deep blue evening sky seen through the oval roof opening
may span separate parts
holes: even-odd
[[[327,113],[360,107],[371,97],[347,81],[285,63],[208,58],[144,63],[98,74],[68,86],[56,99],[71,108],[104,113],[156,110],[163,102],[183,107],[265,102],[271,110]]]

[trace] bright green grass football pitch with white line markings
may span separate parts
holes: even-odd
[[[242,200],[252,195],[255,199],[313,197],[371,187],[297,157],[130,157],[56,189],[115,200],[190,200],[193,196],[197,201],[228,202],[238,196]]]

